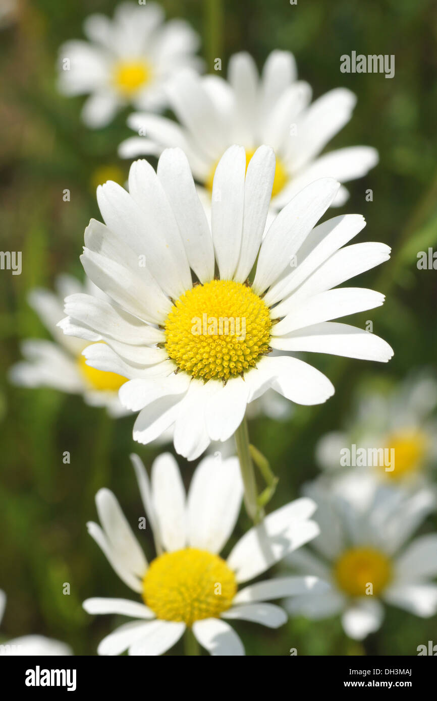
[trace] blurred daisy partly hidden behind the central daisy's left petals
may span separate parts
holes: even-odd
[[[107,407],[109,414],[114,417],[129,414],[121,406],[118,396],[118,390],[126,382],[126,377],[90,367],[82,355],[83,348],[88,343],[65,336],[57,326],[64,316],[63,301],[66,295],[86,291],[94,296],[97,305],[104,304],[105,295],[89,280],[86,285],[82,285],[70,275],[60,275],[56,287],[57,294],[43,289],[32,290],[29,294],[30,306],[39,315],[54,341],[23,341],[21,351],[25,361],[11,367],[9,379],[24,387],[52,387],[69,394],[81,394],[87,404]],[[88,340],[95,340],[95,334]]]

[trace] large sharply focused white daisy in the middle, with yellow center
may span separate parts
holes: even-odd
[[[67,297],[60,326],[104,341],[86,358],[130,380],[119,397],[140,410],[140,443],[174,426],[177,453],[194,460],[211,440],[227,440],[269,388],[298,404],[325,402],[332,384],[295,351],[382,362],[393,354],[378,336],[330,321],[383,303],[373,290],[331,288],[385,261],[389,247],[344,247],[365,226],[360,215],[313,229],[337,195],[332,178],[298,193],[262,238],[274,172],[269,147],[247,175],[243,147],[228,149],[215,172],[212,232],[180,149],[164,151],[157,174],[133,163],[129,193],[114,182],[98,188],[105,224],[91,220],[81,260],[112,301]]]

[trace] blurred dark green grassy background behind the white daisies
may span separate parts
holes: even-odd
[[[311,83],[314,97],[337,86],[353,90],[354,116],[327,150],[356,144],[379,150],[377,168],[352,182],[349,201],[329,216],[359,212],[368,224],[357,243],[377,240],[393,248],[389,263],[358,282],[384,292],[386,304],[370,317],[356,315],[354,323],[364,326],[371,318],[395,356],[378,366],[312,355],[310,362],[334,382],[335,396],[321,407],[296,407],[288,422],[251,423],[257,447],[281,478],[269,504],[273,510],[318,474],[316,440],[342,426],[361,386],[389,385],[410,368],[435,365],[437,273],[418,271],[416,255],[437,245],[437,6],[430,0],[161,4],[168,17],[191,22],[203,39],[201,53],[210,65],[221,57],[223,74],[231,53],[248,50],[262,67],[269,52],[281,48],[295,53],[299,76]],[[83,38],[83,19],[94,11],[112,14],[114,5],[23,2],[18,22],[0,35],[0,247],[22,251],[21,275],[0,271],[0,588],[8,594],[1,637],[39,632],[69,642],[79,655],[95,654],[98,641],[126,620],[93,618],[81,601],[130,597],[86,533],[86,522],[96,519],[95,491],[112,489],[135,524],[142,505],[128,455],[137,451],[149,468],[158,451],[133,443],[133,418],[112,421],[80,397],[11,387],[6,371],[19,358],[21,339],[47,336],[27,306],[28,291],[52,287],[62,272],[82,275],[83,231],[90,217],[100,219],[91,185],[95,169],[118,165],[124,176],[128,172],[128,163],[116,158],[116,147],[132,134],[128,111],[107,128],[90,131],[79,119],[83,98],[62,97],[55,88],[60,43]],[[394,54],[394,79],[340,73],[340,55],[352,50]],[[62,201],[65,188],[71,191],[69,203]],[[368,188],[372,202],[365,201]],[[64,451],[71,453],[69,465],[62,463]],[[179,462],[188,485],[194,465]],[[242,512],[228,550],[249,525]],[[429,519],[422,531],[433,526]],[[151,538],[142,542],[152,557]],[[69,596],[62,594],[65,582]],[[362,644],[345,637],[338,619],[299,618],[278,631],[244,622],[235,627],[248,655],[288,655],[290,648],[298,655],[415,655],[417,645],[437,642],[435,618],[420,620],[394,608],[387,608],[382,629]],[[181,653],[179,644],[168,654]]]

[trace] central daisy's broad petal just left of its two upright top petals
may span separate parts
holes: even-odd
[[[214,278],[213,238],[187,156],[181,149],[163,152],[158,163],[158,177],[179,226],[189,264],[201,283],[207,283]]]

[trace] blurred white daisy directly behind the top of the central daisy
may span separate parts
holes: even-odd
[[[119,154],[135,158],[180,147],[194,177],[208,191],[217,163],[232,144],[245,147],[247,161],[262,144],[274,149],[271,205],[276,209],[318,178],[347,182],[365,175],[378,161],[377,151],[363,146],[320,156],[349,122],[356,97],[337,88],[310,104],[311,87],[297,81],[295,59],[288,51],[272,51],[261,77],[248,53],[231,57],[227,81],[186,69],[169,82],[167,93],[179,123],[151,114],[130,115],[128,125],[137,136],[124,141]],[[342,186],[332,205],[342,205],[348,196]]]

